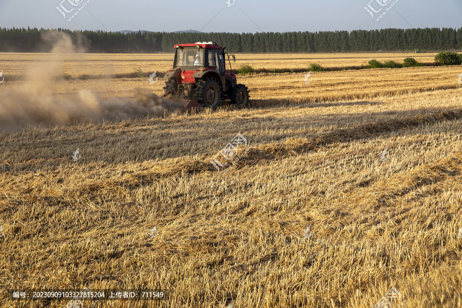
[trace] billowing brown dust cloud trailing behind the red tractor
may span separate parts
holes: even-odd
[[[65,33],[47,33],[44,41],[53,46],[53,61],[31,68],[26,73],[26,81],[7,86],[0,92],[0,130],[18,130],[26,125],[49,127],[145,115],[161,116],[166,111],[183,107],[183,103],[160,98],[147,88],[134,88],[133,98],[103,99],[87,89],[80,90],[70,98],[64,97],[53,89],[66,57],[63,53],[84,50],[75,47]]]

